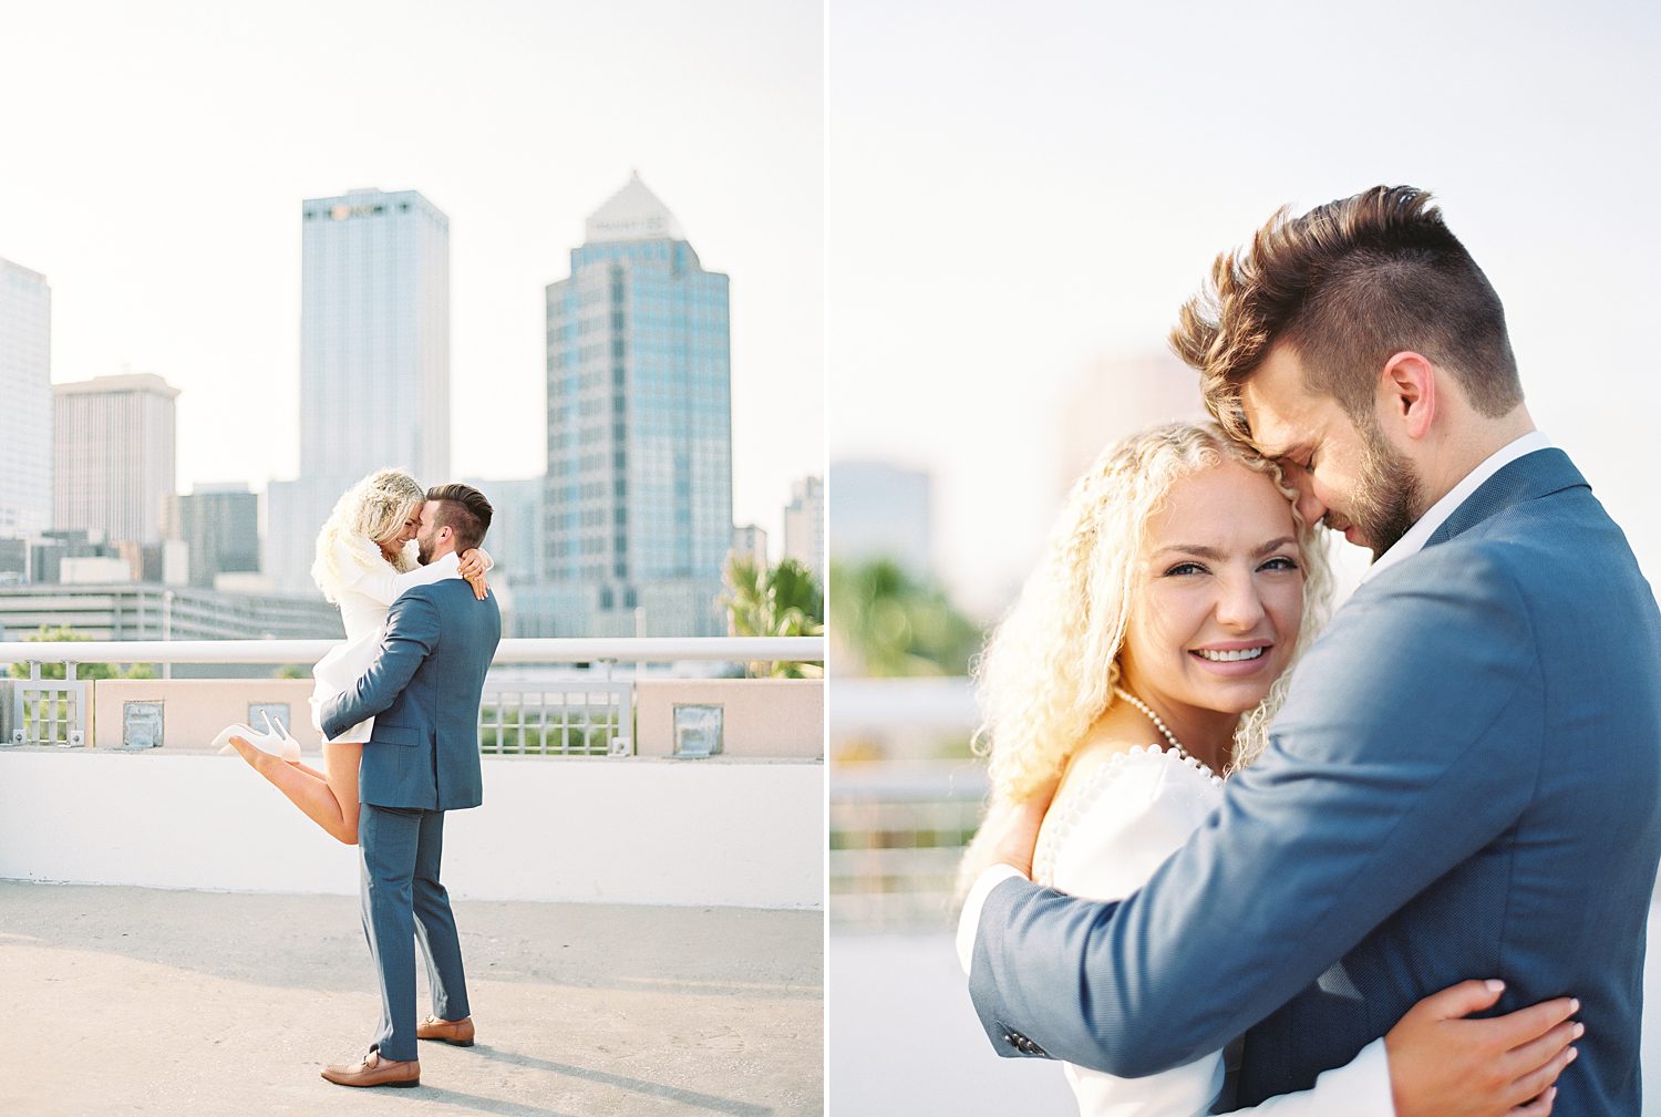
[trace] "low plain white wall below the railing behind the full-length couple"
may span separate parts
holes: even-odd
[[[824,765],[485,757],[445,818],[458,900],[824,905]],[[355,895],[329,838],[239,757],[0,750],[0,878]]]

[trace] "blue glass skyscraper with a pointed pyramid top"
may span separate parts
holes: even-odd
[[[724,632],[728,277],[703,269],[636,174],[588,219],[570,279],[546,294],[545,561],[556,631]]]

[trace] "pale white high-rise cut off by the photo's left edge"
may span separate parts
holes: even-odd
[[[51,289],[0,261],[0,538],[51,528]]]

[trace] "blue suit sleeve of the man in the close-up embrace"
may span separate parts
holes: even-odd
[[[1146,888],[992,890],[970,994],[993,1047],[1139,1077],[1292,999],[1521,815],[1541,755],[1535,647],[1477,546],[1364,586],[1297,667],[1266,755]]]

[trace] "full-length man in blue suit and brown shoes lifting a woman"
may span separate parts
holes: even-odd
[[[477,548],[490,501],[467,485],[427,493],[415,541],[422,564]],[[380,971],[380,1027],[355,1066],[331,1066],[341,1085],[420,1085],[417,1039],[472,1046],[473,1021],[450,898],[439,883],[443,812],[478,807],[478,699],[502,641],[497,599],[460,578],[405,591],[369,671],[321,710],[334,737],[375,724],[359,770],[364,936]],[[415,1022],[415,938],[427,954],[434,1014]]]

